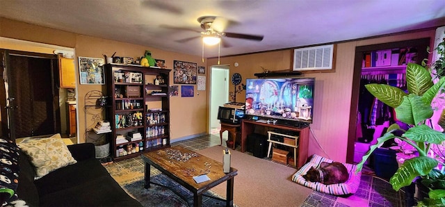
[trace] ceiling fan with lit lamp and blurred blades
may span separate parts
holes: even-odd
[[[182,40],[177,40],[177,42],[188,42],[190,40],[194,40],[196,38],[202,37],[202,40],[204,44],[208,45],[214,45],[221,42],[221,39],[223,37],[227,38],[239,38],[239,39],[245,39],[245,40],[254,40],[254,41],[261,41],[264,38],[264,35],[250,35],[250,34],[242,34],[242,33],[228,33],[225,32],[225,28],[229,26],[229,24],[233,24],[233,22],[230,22],[229,20],[223,18],[223,17],[215,17],[215,16],[204,16],[197,18],[197,22],[200,22],[201,28],[204,29],[204,31],[195,31],[191,28],[177,28],[177,27],[171,27],[171,26],[164,26],[168,28],[176,28],[181,30],[187,30],[187,31],[195,31],[198,33],[201,33],[201,36],[196,36],[192,38],[186,38]],[[230,47],[227,42],[222,41],[223,47]]]

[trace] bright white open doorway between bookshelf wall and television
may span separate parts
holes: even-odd
[[[219,134],[218,107],[229,102],[229,65],[213,65],[210,68],[209,133]]]

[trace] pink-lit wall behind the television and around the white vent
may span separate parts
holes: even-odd
[[[318,154],[340,162],[346,161],[348,124],[350,122],[351,94],[354,72],[355,47],[417,38],[432,38],[435,30],[403,35],[386,36],[368,40],[341,42],[337,44],[335,72],[305,73],[301,77],[316,78],[314,100],[314,123],[310,125],[309,155]],[[238,72],[245,78],[255,78],[254,73],[291,68],[293,49],[254,53],[243,56],[220,58],[221,65],[230,65],[230,76]],[[209,58],[207,65],[216,65],[217,58]],[[238,63],[238,67],[234,67]],[[233,88],[229,87],[233,92]],[[358,90],[358,89],[356,89]],[[245,92],[236,96],[243,102]],[[355,122],[355,120],[354,120]]]

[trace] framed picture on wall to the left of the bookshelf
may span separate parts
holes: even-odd
[[[81,84],[105,84],[104,58],[79,57]]]

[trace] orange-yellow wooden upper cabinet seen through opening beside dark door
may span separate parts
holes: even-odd
[[[60,88],[76,88],[74,59],[59,57],[58,69],[60,74]]]

